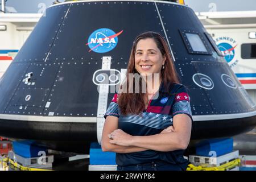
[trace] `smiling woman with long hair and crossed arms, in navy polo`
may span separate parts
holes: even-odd
[[[129,74],[135,73],[146,82],[146,93],[140,89],[114,95],[104,116],[102,151],[117,153],[119,171],[185,170],[188,161],[183,152],[191,136],[191,107],[161,35],[145,32],[135,39],[122,91],[125,86],[133,90]],[[147,79],[151,75],[154,78]]]

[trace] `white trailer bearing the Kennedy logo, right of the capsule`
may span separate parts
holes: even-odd
[[[256,11],[201,12],[197,15],[256,102]]]

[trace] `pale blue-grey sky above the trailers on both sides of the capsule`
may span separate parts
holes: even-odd
[[[1,0],[0,0],[1,1]],[[7,0],[7,6],[13,6],[18,13],[38,13],[42,5],[52,5],[54,0]],[[59,0],[64,1],[64,0]],[[255,0],[184,0],[195,11],[244,11],[256,10]],[[246,3],[245,3],[246,2]]]

